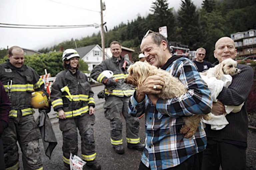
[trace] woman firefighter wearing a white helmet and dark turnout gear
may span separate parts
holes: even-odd
[[[74,49],[66,49],[62,55],[64,71],[56,75],[52,85],[51,98],[57,111],[63,136],[63,162],[69,169],[70,152],[77,155],[77,128],[81,135],[82,159],[94,170],[101,166],[96,161],[94,132],[95,123],[93,91],[87,76],[78,69],[80,56]]]

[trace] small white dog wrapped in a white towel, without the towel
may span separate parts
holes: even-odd
[[[223,74],[229,74],[231,76],[237,75],[241,72],[240,69],[236,68],[237,62],[232,58],[227,58],[223,60],[218,65],[209,68],[206,72],[200,73],[207,76],[208,78],[216,77],[218,80],[221,79]]]

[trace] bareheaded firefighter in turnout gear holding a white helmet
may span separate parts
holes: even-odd
[[[128,114],[128,103],[130,96],[134,93],[134,88],[124,83],[127,76],[127,68],[131,61],[121,56],[121,44],[117,41],[110,43],[112,57],[103,60],[91,71],[91,77],[105,85],[105,117],[110,120],[111,144],[118,154],[124,153],[122,139],[122,119],[126,120],[126,140],[127,147],[143,151],[144,144],[140,143],[139,120]],[[114,73],[113,77],[107,78],[102,72],[110,70]]]

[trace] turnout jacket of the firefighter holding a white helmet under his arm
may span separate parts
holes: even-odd
[[[126,67],[122,68],[125,61],[127,62]],[[114,75],[112,79],[117,82],[116,87],[110,90],[109,87],[106,86],[105,94],[107,96],[129,97],[133,95],[134,88],[124,83],[124,79],[127,77],[127,68],[130,64],[131,61],[123,57],[121,57],[121,60],[118,60],[118,57],[112,56],[112,58],[103,60],[99,65],[95,66],[91,71],[91,77],[99,83],[103,83],[107,77],[102,74],[102,71],[113,71]]]

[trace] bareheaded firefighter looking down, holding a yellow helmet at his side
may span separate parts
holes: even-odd
[[[11,102],[9,126],[2,134],[5,167],[6,170],[19,169],[18,141],[24,169],[41,170],[38,141],[41,135],[30,100],[33,91],[44,90],[44,82],[34,69],[23,63],[23,49],[13,46],[8,51],[7,62],[0,65],[0,81]]]

